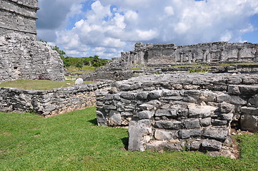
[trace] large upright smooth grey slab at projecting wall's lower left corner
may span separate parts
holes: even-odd
[[[134,151],[144,151],[144,145],[147,142],[143,141],[144,136],[152,135],[152,128],[150,128],[145,123],[131,121],[129,123],[129,145],[128,150]]]

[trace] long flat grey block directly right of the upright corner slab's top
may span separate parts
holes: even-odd
[[[184,123],[180,121],[158,120],[155,122],[154,127],[167,130],[180,130],[184,128]]]

